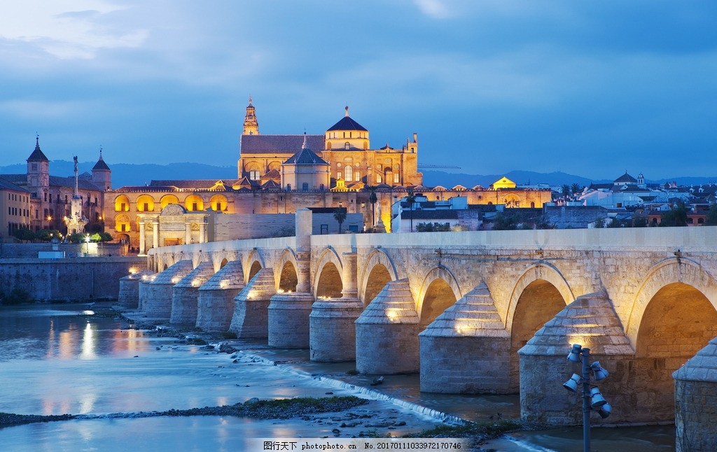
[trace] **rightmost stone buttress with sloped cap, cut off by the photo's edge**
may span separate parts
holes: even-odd
[[[717,438],[717,338],[673,373],[675,451],[711,452]]]

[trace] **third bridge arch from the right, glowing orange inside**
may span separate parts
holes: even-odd
[[[463,297],[458,281],[445,266],[434,267],[426,274],[417,297],[416,311],[420,330],[424,330],[443,311]]]

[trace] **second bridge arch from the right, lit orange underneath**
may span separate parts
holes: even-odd
[[[518,278],[505,316],[506,329],[511,333],[511,392],[518,392],[521,383],[518,350],[574,300],[565,278],[551,264],[533,264]]]

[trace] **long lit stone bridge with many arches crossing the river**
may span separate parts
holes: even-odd
[[[422,390],[520,393],[580,423],[570,345],[610,372],[604,422],[675,418],[673,372],[717,337],[717,228],[310,236],[168,246],[125,277],[148,317],[309,348]],[[133,285],[134,284],[134,285]],[[596,423],[602,422],[597,419]]]

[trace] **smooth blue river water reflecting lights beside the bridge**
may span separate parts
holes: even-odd
[[[317,364],[301,350],[242,343],[234,362],[225,353],[179,345],[170,337],[127,329],[84,304],[0,307],[0,412],[36,415],[123,413],[124,418],[34,423],[0,429],[2,451],[242,451],[246,438],[333,437],[332,415],[308,420],[250,420],[196,416],[136,418],[142,411],[232,405],[253,397],[361,395],[380,419],[404,420],[394,436],[440,423],[432,410],[471,420],[519,414],[517,396],[469,397],[419,392],[417,375],[386,376],[388,397],[361,393],[365,376],[353,363]],[[279,365],[267,365],[271,360]],[[312,378],[325,375],[328,378]],[[332,376],[346,383],[331,378]],[[352,386],[356,385],[356,386]],[[391,397],[412,404],[392,403]],[[388,400],[387,400],[388,399]],[[356,410],[353,410],[356,411]],[[362,428],[341,428],[342,437]],[[524,432],[488,447],[498,451],[581,450],[580,428]],[[673,451],[674,428],[593,429],[595,451]]]

